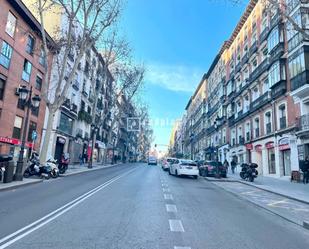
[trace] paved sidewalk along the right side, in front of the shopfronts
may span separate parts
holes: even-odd
[[[289,199],[309,204],[309,184],[291,182],[289,177],[275,178],[269,176],[258,176],[254,182],[247,182],[240,179],[239,173],[235,173],[228,174],[227,178],[215,179],[206,177],[206,179],[210,181],[240,182]]]

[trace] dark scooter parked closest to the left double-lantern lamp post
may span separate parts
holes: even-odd
[[[45,179],[49,179],[51,177],[51,171],[51,166],[41,165],[39,155],[36,152],[33,152],[30,159],[30,164],[24,172],[24,177],[28,178],[30,176],[36,175]]]

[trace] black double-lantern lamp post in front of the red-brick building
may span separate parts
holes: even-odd
[[[25,122],[23,125],[23,133],[21,137],[19,157],[18,157],[16,173],[15,173],[15,180],[22,181],[23,180],[23,168],[24,168],[24,152],[25,152],[25,144],[26,144],[27,133],[28,133],[28,128],[29,128],[28,126],[29,126],[30,109],[38,108],[40,105],[41,98],[39,95],[34,95],[32,97],[32,86],[30,87],[30,89],[27,89],[26,86],[21,86],[18,89],[18,93],[19,93],[19,99],[21,101],[21,104],[27,108]]]

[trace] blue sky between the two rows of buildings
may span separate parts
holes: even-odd
[[[135,59],[146,66],[143,97],[155,143],[169,143],[171,122],[184,113],[244,8],[228,0],[127,1],[121,26]]]

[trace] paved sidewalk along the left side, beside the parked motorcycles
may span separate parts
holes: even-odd
[[[65,177],[65,176],[71,176],[71,175],[76,175],[76,174],[81,174],[84,172],[88,172],[88,171],[94,171],[94,170],[99,170],[99,169],[103,169],[103,168],[109,168],[109,167],[114,167],[119,165],[118,164],[102,164],[102,163],[93,163],[93,166],[91,169],[88,169],[88,164],[84,164],[84,165],[79,165],[79,164],[74,164],[74,165],[69,165],[68,170],[65,172],[65,174],[60,175],[60,177]],[[47,181],[51,181],[47,180]],[[35,184],[35,183],[40,183],[43,182],[43,179],[34,177],[34,178],[24,178],[22,181],[13,181],[10,183],[3,183],[0,182],[0,191],[4,191],[4,190],[10,190],[10,189],[16,189],[19,187],[23,187],[23,186],[27,186],[30,184]]]

